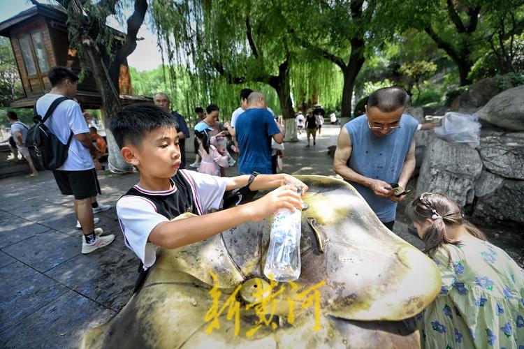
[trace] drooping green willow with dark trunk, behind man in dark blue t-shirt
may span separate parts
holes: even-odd
[[[184,64],[203,84],[260,82],[275,89],[284,119],[294,118],[289,73],[296,45],[281,1],[157,0],[152,17],[170,65]],[[211,96],[212,97],[212,96]],[[296,141],[296,129],[286,122]]]

